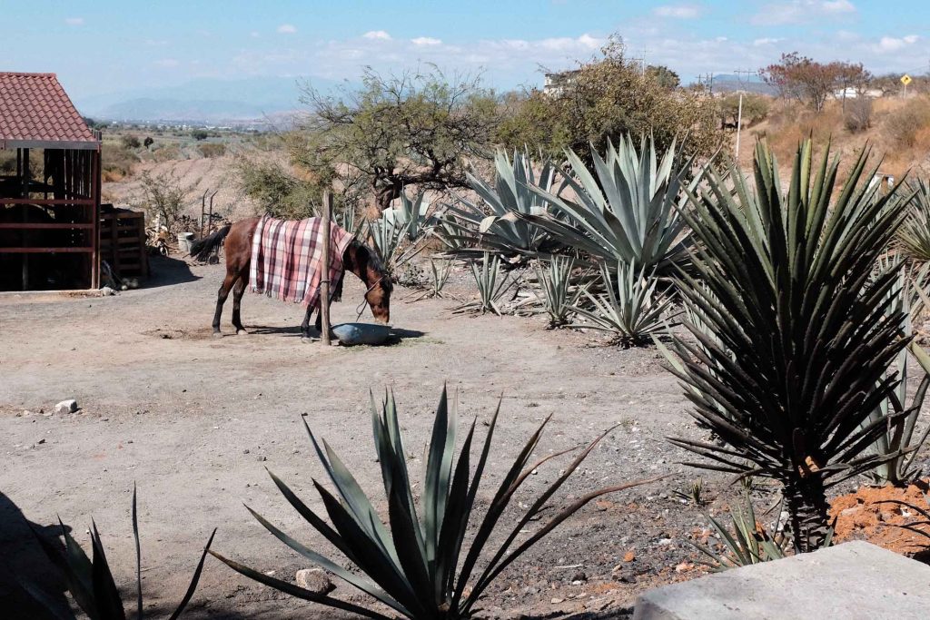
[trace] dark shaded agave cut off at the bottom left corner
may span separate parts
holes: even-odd
[[[77,606],[80,607],[90,620],[126,620],[126,610],[123,600],[120,598],[119,589],[116,587],[113,573],[110,571],[110,565],[107,563],[106,554],[103,551],[103,544],[100,541],[100,533],[97,531],[97,524],[91,521],[90,527],[90,546],[93,550],[93,560],[87,558],[83,548],[77,544],[68,529],[61,521],[61,535],[64,537],[64,548],[60,544],[53,544],[47,541],[43,536],[36,534],[39,543],[46,551],[48,559],[55,564],[64,576],[65,586],[71,592],[71,596]],[[206,541],[204,552],[197,562],[197,568],[193,572],[191,584],[181,599],[178,607],[168,616],[169,620],[176,620],[188,603],[193,598],[193,593],[197,589],[197,583],[200,581],[200,574],[204,570],[204,560],[206,553],[213,543],[213,536],[217,533],[214,529],[210,534],[209,540]],[[136,512],[136,490],[132,491],[132,534],[136,540],[136,618],[141,620],[142,614],[142,556],[139,542],[139,520]]]

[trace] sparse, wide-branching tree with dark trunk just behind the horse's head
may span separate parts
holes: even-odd
[[[465,188],[466,160],[489,158],[498,97],[479,77],[428,73],[384,76],[366,69],[362,86],[326,97],[307,86],[312,115],[291,142],[295,162],[321,176],[360,182],[387,208],[407,185]]]

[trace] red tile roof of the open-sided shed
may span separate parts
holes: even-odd
[[[55,73],[0,73],[0,148],[54,148],[43,144],[51,142],[71,143],[60,148],[99,144]]]

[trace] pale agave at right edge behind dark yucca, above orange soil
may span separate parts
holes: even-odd
[[[897,262],[880,261],[878,272],[897,269],[897,287],[890,292],[892,311],[901,316],[901,332],[910,336],[913,316],[923,308],[930,308],[930,298],[923,292],[923,286],[930,265],[924,265],[917,270],[913,277],[909,277],[908,270],[902,268]],[[923,299],[922,299],[923,297]],[[923,371],[921,383],[914,393],[910,405],[907,404],[908,392],[908,352],[914,357]],[[873,446],[876,455],[890,455],[890,458],[880,463],[876,468],[867,472],[871,481],[879,484],[907,485],[921,475],[921,469],[914,467],[917,453],[930,435],[930,428],[924,429],[919,436],[914,436],[917,418],[920,416],[927,389],[930,388],[930,355],[916,342],[911,342],[907,349],[897,354],[895,365],[885,371],[886,377],[897,373],[897,387],[880,402],[872,411],[865,424],[886,418],[888,424],[884,432],[878,436]]]

